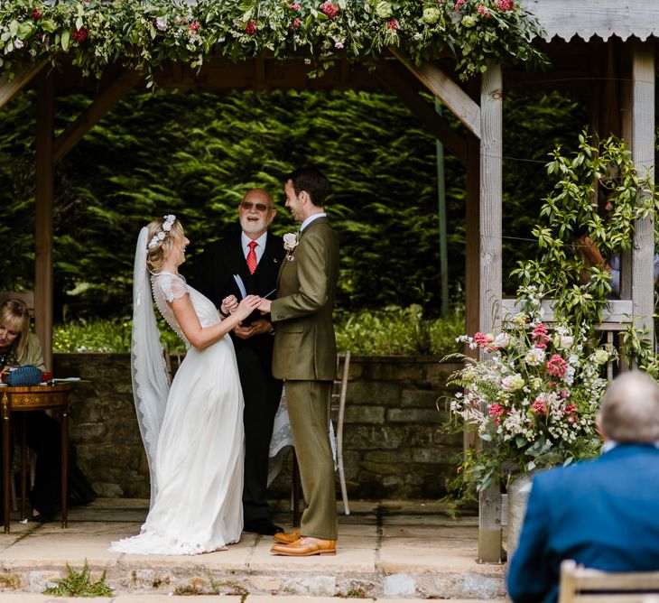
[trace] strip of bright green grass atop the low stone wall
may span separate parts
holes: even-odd
[[[453,311],[446,319],[428,318],[422,307],[391,307],[380,311],[338,311],[337,348],[353,354],[377,356],[435,356],[461,351],[455,339],[464,332],[464,314]],[[162,345],[172,353],[185,351],[164,322],[159,323]],[[52,334],[54,352],[128,352],[130,320],[77,320],[60,323]]]

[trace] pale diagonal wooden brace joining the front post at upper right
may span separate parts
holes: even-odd
[[[432,94],[439,98],[445,107],[448,107],[459,120],[467,126],[469,132],[480,138],[480,108],[471,100],[471,97],[447,76],[437,65],[423,63],[416,67],[397,51],[389,49],[394,57],[413,73]]]

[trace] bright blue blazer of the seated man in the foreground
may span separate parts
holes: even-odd
[[[618,444],[599,459],[538,474],[508,564],[515,603],[556,601],[561,561],[659,571],[659,449]]]

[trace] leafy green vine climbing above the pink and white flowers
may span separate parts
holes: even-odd
[[[611,276],[604,266],[589,265],[581,246],[588,237],[609,257],[629,249],[636,220],[659,209],[659,192],[637,174],[627,146],[614,136],[593,146],[584,130],[577,152],[563,156],[561,151],[557,147],[547,163],[556,183],[534,227],[539,255],[521,262],[513,275],[521,282],[520,298],[552,298],[559,319],[592,328],[608,302]],[[591,202],[598,186],[612,209]]]

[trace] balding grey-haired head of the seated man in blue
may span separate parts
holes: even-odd
[[[602,399],[599,425],[620,443],[659,441],[659,384],[640,371],[618,376]]]

